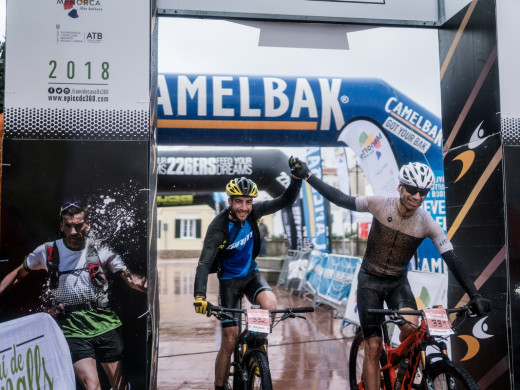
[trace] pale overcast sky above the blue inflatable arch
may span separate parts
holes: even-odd
[[[159,72],[374,77],[441,114],[435,29],[351,32],[349,50],[261,47],[259,35],[229,21],[162,17]]]

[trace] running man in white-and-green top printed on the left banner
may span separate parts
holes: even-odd
[[[118,276],[143,293],[146,280],[131,273],[119,255],[88,238],[88,207],[78,201],[65,202],[59,217],[63,238],[29,253],[2,279],[0,296],[31,271],[47,271],[46,303],[67,340],[78,382],[85,390],[100,389],[99,363],[112,389],[129,390],[122,367],[122,323],[110,307],[108,278]]]

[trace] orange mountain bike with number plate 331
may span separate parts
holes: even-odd
[[[468,306],[455,309],[432,308],[425,310],[368,309],[370,314],[388,316],[383,321],[383,351],[379,359],[381,389],[384,390],[478,390],[471,375],[450,360],[446,340],[454,330],[448,319],[449,313],[465,319],[474,316]],[[421,317],[416,325],[403,318]],[[410,324],[414,331],[397,347],[392,347],[388,324]],[[364,389],[361,377],[364,358],[364,339],[358,331],[349,355],[349,383],[351,390]]]

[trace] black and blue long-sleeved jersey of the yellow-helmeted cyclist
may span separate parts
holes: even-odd
[[[206,296],[208,275],[210,270],[213,268],[212,265],[214,263],[218,265],[217,276],[219,278],[223,275],[229,277],[232,274],[231,269],[234,268],[234,266],[237,266],[238,263],[229,266],[229,264],[227,264],[228,259],[233,257],[237,260],[238,256],[243,256],[243,254],[238,255],[235,252],[247,252],[247,256],[242,257],[242,259],[247,258],[247,261],[250,261],[250,263],[249,266],[245,266],[243,272],[240,272],[240,276],[236,274],[237,270],[235,269],[233,271],[235,274],[234,277],[245,277],[257,269],[255,258],[260,252],[260,231],[258,230],[260,218],[264,215],[273,214],[284,207],[292,205],[300,193],[301,183],[301,180],[292,178],[289,187],[287,187],[284,193],[279,197],[264,202],[253,203],[252,211],[246,219],[246,223],[251,228],[251,232],[248,232],[247,236],[242,236],[239,240],[247,241],[248,245],[240,246],[240,242],[237,243],[236,238],[232,240],[232,237],[230,236],[230,207],[227,207],[225,210],[220,212],[213,221],[211,221],[206,232],[206,237],[204,238],[204,245],[195,274],[194,295],[196,297]],[[244,225],[246,223],[244,223]],[[240,222],[237,222],[236,224],[241,225]],[[243,226],[240,227],[243,229]],[[250,257],[248,251],[250,251]],[[246,264],[246,262],[244,262],[244,264]],[[225,274],[224,272],[227,273]]]

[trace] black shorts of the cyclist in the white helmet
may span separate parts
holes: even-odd
[[[368,314],[367,309],[383,309],[384,302],[391,310],[399,310],[403,307],[417,309],[417,303],[406,274],[380,277],[361,269],[358,274],[357,308],[365,338],[382,337],[383,316]]]

